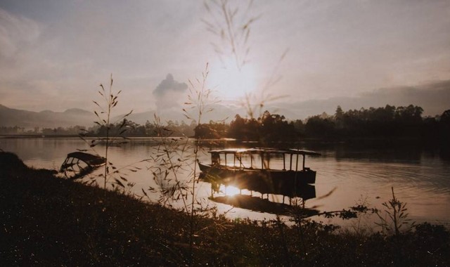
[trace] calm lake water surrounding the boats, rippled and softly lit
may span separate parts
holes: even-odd
[[[158,148],[160,141],[151,138],[135,138],[120,147],[110,148],[110,161],[117,167],[134,164],[141,170],[129,171],[130,182],[135,183],[132,190],[142,194],[142,188],[149,186],[158,188],[153,174],[148,170],[154,162],[136,162],[148,159]],[[190,142],[192,145],[192,142]],[[234,146],[232,142],[219,143],[221,148]],[[242,144],[241,144],[242,145]],[[248,145],[248,144],[247,144]],[[363,148],[361,148],[363,147]],[[295,148],[320,152],[320,157],[307,157],[307,167],[317,171],[314,186],[316,197],[306,201],[306,207],[314,207],[319,211],[347,209],[356,204],[365,203],[370,207],[383,209],[383,202],[392,198],[391,188],[396,197],[406,202],[409,219],[418,223],[428,221],[449,225],[450,223],[450,161],[442,158],[435,150],[424,150],[414,145],[384,145],[383,148],[368,148],[362,145],[346,145],[344,143],[302,143]],[[77,149],[88,146],[79,138],[0,138],[0,149],[16,153],[25,164],[35,168],[59,169],[66,155]],[[98,147],[101,155],[103,148]],[[202,162],[210,162],[210,155],[203,147],[199,153]],[[191,155],[192,150],[185,151]],[[193,158],[191,167],[193,167]],[[186,180],[189,171],[181,172],[181,180]],[[210,184],[200,182],[195,188],[195,195],[208,205],[217,205],[221,213],[232,219],[274,219],[269,213],[255,212],[248,209],[232,208],[226,204],[217,204],[207,199],[210,196]],[[224,188],[222,188],[224,190]],[[330,195],[328,193],[332,192]],[[227,188],[226,193],[238,193],[235,188]],[[149,193],[151,201],[157,201],[159,193]],[[243,192],[243,194],[249,194]],[[257,193],[252,193],[258,196]],[[260,196],[260,195],[259,195]],[[325,197],[323,197],[325,196]],[[269,196],[270,200],[281,202],[279,195]],[[175,207],[181,207],[175,203]],[[371,219],[359,219],[357,222],[340,219],[314,218],[327,223],[353,225],[368,223]]]

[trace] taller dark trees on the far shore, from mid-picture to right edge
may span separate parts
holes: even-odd
[[[264,112],[257,118],[236,115],[230,124],[210,122],[195,128],[198,138],[236,138],[242,141],[293,141],[302,138],[420,138],[448,143],[450,110],[422,117],[423,108],[386,105],[382,108],[342,110],[288,122],[283,115]]]

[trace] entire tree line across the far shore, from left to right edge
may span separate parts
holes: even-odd
[[[321,115],[307,119],[288,121],[283,115],[265,111],[261,116],[241,117],[236,115],[230,123],[213,122],[197,125],[184,121],[168,121],[162,126],[147,121],[137,124],[126,120],[124,136],[151,137],[158,136],[157,127],[164,127],[172,136],[195,136],[196,138],[236,138],[240,141],[297,141],[304,138],[326,140],[346,140],[354,138],[414,138],[439,141],[448,144],[450,139],[450,110],[435,117],[423,117],[423,109],[416,105],[386,105],[381,108],[361,108],[344,111],[340,106],[334,115]],[[120,125],[124,122],[110,124],[110,131],[124,131]],[[106,126],[82,126],[67,128],[35,127],[25,130],[22,127],[0,126],[1,134],[41,134],[44,136],[77,135],[84,131],[88,136],[102,136]]]

